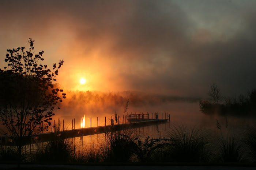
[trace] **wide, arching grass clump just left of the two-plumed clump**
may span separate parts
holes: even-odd
[[[211,136],[197,126],[174,124],[169,137],[173,146],[169,148],[171,162],[209,162],[212,159]]]

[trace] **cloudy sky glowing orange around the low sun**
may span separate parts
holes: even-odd
[[[65,90],[206,97],[212,83],[225,96],[256,87],[255,0],[1,0],[0,16],[0,68],[7,49],[33,38],[44,64],[65,61]]]

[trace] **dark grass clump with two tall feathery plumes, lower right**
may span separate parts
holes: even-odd
[[[221,135],[217,137],[217,161],[220,162],[241,162],[245,158],[242,143],[236,138],[236,135],[228,133],[228,123],[226,119],[226,135],[222,134],[222,126],[216,122],[216,127]]]

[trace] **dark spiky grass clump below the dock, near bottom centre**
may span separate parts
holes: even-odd
[[[112,131],[105,135],[106,143],[102,158],[104,162],[128,162],[135,154],[136,135],[133,129],[125,129],[120,131]]]

